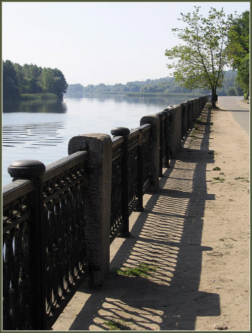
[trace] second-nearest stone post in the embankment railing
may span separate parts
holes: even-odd
[[[145,124],[151,124],[149,151],[151,183],[149,189],[157,191],[159,189],[160,119],[158,115],[144,116],[140,121],[140,126]]]

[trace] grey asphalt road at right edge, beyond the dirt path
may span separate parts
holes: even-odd
[[[234,121],[249,134],[249,104],[243,96],[218,96],[218,106],[232,112]]]

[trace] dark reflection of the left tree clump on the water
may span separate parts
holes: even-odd
[[[29,101],[11,101],[3,103],[3,113],[66,113],[67,104],[60,99],[32,99]]]

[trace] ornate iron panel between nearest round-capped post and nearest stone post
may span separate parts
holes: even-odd
[[[65,157],[48,165],[42,179],[48,327],[88,273],[84,218],[87,159],[87,152]]]

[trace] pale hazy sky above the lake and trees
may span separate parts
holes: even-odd
[[[2,57],[58,68],[69,84],[125,84],[170,76],[171,29],[194,6],[226,14],[250,2],[2,2]]]

